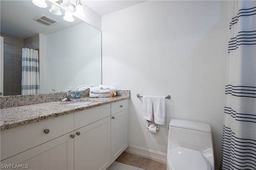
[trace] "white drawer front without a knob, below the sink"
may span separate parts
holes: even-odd
[[[110,104],[74,113],[74,130],[110,116]]]

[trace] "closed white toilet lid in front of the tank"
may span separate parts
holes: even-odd
[[[170,150],[168,165],[172,170],[210,170],[210,163],[202,156],[201,152],[188,148]]]

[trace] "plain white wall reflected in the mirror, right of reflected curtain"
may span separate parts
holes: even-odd
[[[46,93],[101,83],[101,32],[86,23],[46,36]]]

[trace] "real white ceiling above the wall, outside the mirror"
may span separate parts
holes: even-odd
[[[82,3],[89,6],[100,16],[110,14],[128,8],[130,6],[145,2],[146,0],[82,0]]]

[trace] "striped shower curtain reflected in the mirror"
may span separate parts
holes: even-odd
[[[39,67],[38,51],[22,48],[22,83],[21,94],[39,93]]]

